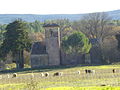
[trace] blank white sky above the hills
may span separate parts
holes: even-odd
[[[120,0],[0,0],[0,14],[82,14],[120,9]]]

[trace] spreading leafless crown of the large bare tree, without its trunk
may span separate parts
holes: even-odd
[[[97,38],[102,44],[104,38],[110,35],[112,30],[112,26],[109,25],[110,20],[107,13],[91,13],[82,18],[80,30],[88,37]]]

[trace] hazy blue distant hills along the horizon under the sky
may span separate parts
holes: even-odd
[[[109,15],[113,19],[120,20],[120,10],[109,11]],[[7,24],[15,19],[21,18],[27,22],[33,22],[35,20],[39,20],[41,22],[45,20],[53,20],[53,19],[69,19],[80,20],[82,16],[85,14],[48,14],[48,15],[38,15],[38,14],[0,14],[0,24]]]

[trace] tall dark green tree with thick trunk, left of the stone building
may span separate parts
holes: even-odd
[[[12,52],[12,55],[16,57],[17,68],[24,68],[24,50],[29,51],[31,47],[27,24],[18,19],[8,24],[6,30],[5,39],[1,46],[1,54],[4,57]]]

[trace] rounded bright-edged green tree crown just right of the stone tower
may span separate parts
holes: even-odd
[[[88,53],[91,48],[89,39],[81,32],[73,32],[64,37],[62,46],[66,53]]]

